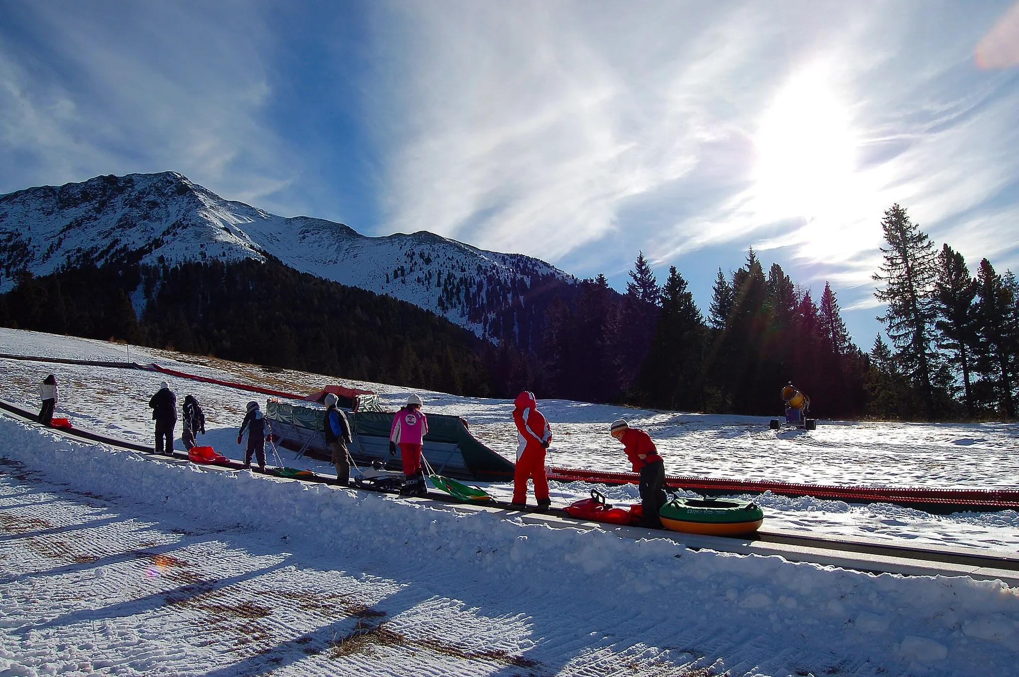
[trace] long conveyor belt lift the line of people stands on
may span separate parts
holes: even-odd
[[[0,411],[15,419],[40,424],[33,412],[0,400]],[[42,428],[40,426],[40,428]],[[171,457],[155,455],[153,447],[146,447],[82,429],[46,429],[53,433],[141,452],[168,462],[191,463],[186,454],[173,452]],[[243,468],[239,461],[224,465],[202,465],[211,471],[231,471]],[[274,467],[274,466],[267,466]],[[610,473],[609,473],[610,474]],[[308,478],[280,478],[281,482],[303,482],[336,486],[334,477],[315,473]],[[347,488],[353,489],[353,488]],[[369,491],[358,489],[356,491]],[[521,511],[509,504],[493,501],[486,505],[468,505],[444,494],[429,492],[426,497],[407,498],[408,501],[429,501],[455,512],[489,512],[504,518],[519,518],[528,523],[540,523],[550,528],[600,528],[623,539],[639,540],[648,537],[668,539],[692,550],[712,550],[739,555],[777,555],[791,562],[810,562],[868,573],[896,573],[907,576],[969,576],[981,580],[1001,580],[1012,587],[1019,587],[1019,557],[997,552],[982,552],[965,548],[924,548],[894,546],[878,540],[859,538],[819,539],[790,531],[761,529],[748,537],[710,537],[651,530],[639,526],[620,526],[577,519],[565,510],[553,508],[548,513]]]

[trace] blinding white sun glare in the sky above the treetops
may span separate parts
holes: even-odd
[[[761,118],[754,190],[762,217],[808,221],[849,207],[856,139],[821,67],[797,73]]]

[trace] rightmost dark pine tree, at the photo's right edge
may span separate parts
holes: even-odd
[[[986,259],[980,261],[976,275],[976,333],[978,368],[988,380],[996,382],[999,404],[1008,418],[1015,418],[1017,347],[1019,347],[1019,317],[1016,316],[1014,281],[1008,283],[995,272]]]

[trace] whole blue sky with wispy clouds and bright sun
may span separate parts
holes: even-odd
[[[0,192],[178,171],[706,314],[753,246],[867,349],[880,219],[1019,272],[1019,4],[0,0]]]

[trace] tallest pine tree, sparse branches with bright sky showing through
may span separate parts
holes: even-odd
[[[881,228],[889,246],[881,247],[884,263],[873,279],[884,287],[876,289],[874,296],[888,303],[888,311],[877,319],[887,326],[907,376],[916,381],[923,415],[929,418],[934,413],[931,376],[936,355],[931,338],[936,312],[931,296],[937,252],[899,205],[884,212]]]

